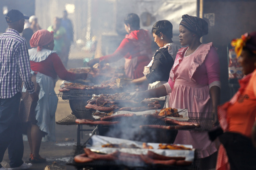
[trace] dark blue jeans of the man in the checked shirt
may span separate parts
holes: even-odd
[[[0,162],[8,148],[10,167],[23,164],[23,138],[19,121],[19,103],[21,93],[11,98],[0,98]],[[0,164],[0,168],[2,168]]]

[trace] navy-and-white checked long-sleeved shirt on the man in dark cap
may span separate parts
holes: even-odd
[[[29,93],[34,92],[26,41],[18,31],[8,29],[0,35],[0,98],[21,92],[22,80]]]

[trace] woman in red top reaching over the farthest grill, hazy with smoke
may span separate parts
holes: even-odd
[[[88,65],[92,67],[95,63],[114,62],[124,57],[126,77],[141,78],[144,76],[144,66],[147,66],[152,57],[151,36],[149,31],[140,29],[140,18],[134,13],[127,14],[124,18],[124,28],[129,35],[126,35],[118,49],[113,54],[90,60]]]

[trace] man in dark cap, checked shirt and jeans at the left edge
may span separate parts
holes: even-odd
[[[0,35],[0,162],[8,148],[9,170],[21,170],[32,166],[22,160],[24,146],[18,115],[22,81],[30,100],[38,101],[38,95],[31,81],[26,41],[19,35],[29,17],[10,10],[5,18],[9,28]],[[0,164],[0,170],[7,169]]]

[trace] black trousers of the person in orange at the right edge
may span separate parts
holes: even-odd
[[[219,139],[226,149],[231,170],[256,170],[256,148],[250,138],[225,132]]]

